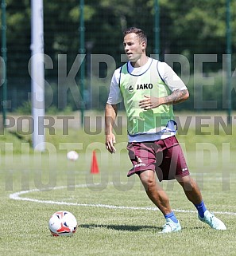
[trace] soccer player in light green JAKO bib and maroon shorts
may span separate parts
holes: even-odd
[[[106,149],[115,152],[113,124],[117,104],[123,98],[128,122],[127,149],[133,163],[128,176],[139,176],[149,199],[164,215],[161,233],[179,231],[181,226],[155,175],[159,181],[176,179],[196,207],[199,220],[215,230],[226,230],[225,224],[207,211],[176,140],[172,105],[188,99],[186,85],[170,66],[146,55],[147,37],[143,30],[127,29],[123,45],[129,61],[114,71],[110,83],[105,110]]]

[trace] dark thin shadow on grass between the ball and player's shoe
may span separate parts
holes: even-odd
[[[131,225],[95,225],[95,224],[83,224],[79,227],[87,229],[95,228],[106,228],[110,230],[120,230],[120,231],[139,231],[139,230],[161,230],[161,226],[131,226]]]

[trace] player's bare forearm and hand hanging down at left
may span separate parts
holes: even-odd
[[[114,120],[117,116],[118,108],[116,104],[106,103],[105,108],[105,135],[106,135],[106,149],[110,153],[115,152],[115,136],[113,133]]]

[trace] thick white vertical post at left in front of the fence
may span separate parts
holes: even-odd
[[[44,9],[43,0],[31,0],[31,103],[33,148],[43,152],[44,142]]]

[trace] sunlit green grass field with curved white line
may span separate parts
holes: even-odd
[[[199,222],[180,186],[169,181],[162,186],[183,229],[159,234],[164,225],[161,212],[137,176],[126,178],[131,167],[126,136],[118,136],[118,152],[109,155],[103,134],[87,136],[73,130],[61,136],[59,131],[48,136],[48,152],[41,155],[29,150],[27,140],[8,134],[1,144],[0,255],[236,255],[235,132],[193,135],[190,130],[178,138],[208,209],[227,230],[211,230]],[[66,159],[68,147],[80,148],[79,160]],[[96,175],[91,174],[93,150],[99,162]],[[71,238],[52,237],[48,230],[48,219],[60,210],[71,211],[79,223]]]

